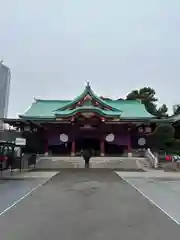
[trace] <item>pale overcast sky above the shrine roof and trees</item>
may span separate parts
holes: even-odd
[[[11,68],[9,116],[34,97],[151,86],[180,103],[179,0],[0,0],[0,58]]]

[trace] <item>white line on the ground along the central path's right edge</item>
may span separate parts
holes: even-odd
[[[154,202],[150,197],[148,197],[143,191],[141,191],[139,188],[137,188],[133,183],[128,181],[126,178],[121,176],[121,173],[115,172],[119,177],[121,177],[125,182],[127,182],[130,186],[132,186],[137,192],[139,192],[144,198],[146,198],[151,204],[159,208],[163,213],[165,213],[171,220],[173,220],[175,223],[180,225],[180,222],[177,221],[174,217],[172,217],[168,212],[166,212],[163,208],[161,208],[156,202]]]

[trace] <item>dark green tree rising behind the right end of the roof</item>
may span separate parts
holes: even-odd
[[[163,104],[160,108],[157,108],[156,92],[153,88],[144,87],[139,90],[133,90],[127,96],[127,100],[141,100],[145,105],[147,111],[157,117],[167,116],[168,108]]]

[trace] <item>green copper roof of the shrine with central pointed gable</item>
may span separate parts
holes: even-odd
[[[71,109],[71,106],[78,103],[90,95],[93,100],[108,109],[104,110],[98,106],[93,106],[91,101],[86,100],[82,106]],[[145,106],[137,100],[102,100],[88,85],[83,93],[74,100],[39,100],[36,99],[31,107],[20,115],[26,119],[55,119],[56,117],[73,116],[78,112],[95,112],[102,116],[119,117],[120,119],[149,119],[154,118],[147,112]]]

